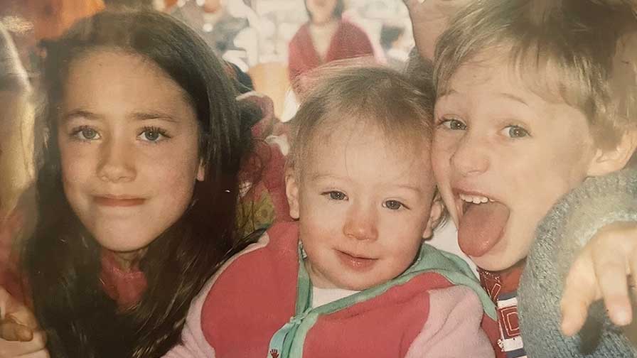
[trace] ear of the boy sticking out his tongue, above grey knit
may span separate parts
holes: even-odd
[[[598,148],[589,164],[588,176],[599,176],[622,169],[630,161],[637,147],[637,130],[626,131],[617,146],[610,149]]]

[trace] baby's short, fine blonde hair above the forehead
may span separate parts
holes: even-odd
[[[417,88],[395,70],[336,61],[313,70],[305,81],[309,90],[290,122],[287,166],[297,173],[319,129],[324,133],[345,121],[371,124],[405,146],[431,140],[433,92]]]

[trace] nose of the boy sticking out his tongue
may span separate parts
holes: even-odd
[[[463,176],[478,175],[489,168],[486,139],[466,134],[451,156],[451,166]]]

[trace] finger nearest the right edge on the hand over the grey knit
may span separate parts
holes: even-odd
[[[594,265],[599,290],[609,318],[616,325],[628,325],[633,320],[633,309],[628,296],[626,261],[623,255],[603,250],[594,251]]]

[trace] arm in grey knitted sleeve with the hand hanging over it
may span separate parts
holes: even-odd
[[[566,354],[560,357],[580,357],[583,351],[599,357],[633,354],[604,305],[589,305],[606,297],[615,309],[616,293],[619,305],[628,305],[626,272],[636,261],[637,247],[631,237],[637,225],[636,188],[635,170],[589,178],[540,222],[518,289],[520,330],[530,357],[552,357],[555,347]],[[584,321],[586,329],[564,336]]]

